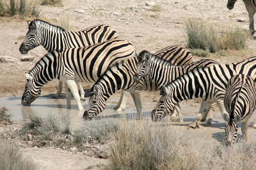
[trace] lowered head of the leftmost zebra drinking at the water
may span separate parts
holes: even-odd
[[[29,106],[41,94],[41,87],[36,87],[32,75],[25,73],[27,83],[22,95],[22,105]]]

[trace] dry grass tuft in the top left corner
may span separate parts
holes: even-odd
[[[0,16],[39,16],[40,10],[32,0],[0,0]]]

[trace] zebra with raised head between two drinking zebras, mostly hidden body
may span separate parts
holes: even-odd
[[[139,53],[137,59],[137,71],[134,75],[135,82],[139,82],[139,80],[144,76],[149,76],[149,78],[154,80],[154,82],[158,84],[159,87],[166,86],[168,83],[172,82],[180,75],[187,73],[189,70],[195,69],[195,67],[209,67],[212,65],[220,64],[216,61],[213,61],[212,59],[201,59],[200,61],[193,62],[189,65],[174,66],[170,62],[159,58],[158,56],[155,56],[154,54],[151,54],[146,50],[143,50],[141,53]],[[196,122],[201,121],[201,113],[205,111],[204,106],[208,108],[212,107],[210,106],[210,104],[208,103],[208,101],[202,101],[200,112],[197,115]],[[179,104],[177,104],[177,107],[180,108]],[[213,107],[215,107],[215,105]],[[183,122],[183,118],[179,109],[176,111],[179,115],[180,122]],[[209,109],[207,109],[206,111],[209,112]],[[208,114],[208,112],[206,114]],[[212,116],[213,115],[209,117],[208,124],[212,123]]]

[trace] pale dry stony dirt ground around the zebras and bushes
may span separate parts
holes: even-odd
[[[120,38],[133,42],[138,52],[141,52],[141,50],[156,52],[168,45],[185,46],[185,22],[188,18],[203,19],[206,22],[213,23],[217,28],[240,27],[249,29],[249,18],[243,2],[237,1],[231,11],[226,8],[226,2],[223,0],[158,0],[147,1],[148,6],[146,1],[138,0],[68,0],[63,1],[63,7],[41,6],[40,18],[58,24],[61,17],[67,16],[74,31],[96,24],[108,24],[117,31]],[[160,8],[154,10],[154,5],[160,6]],[[81,12],[77,12],[77,10]],[[245,18],[246,22],[237,22],[237,18]],[[27,32],[26,21],[16,18],[0,18],[0,28],[0,56],[6,55],[16,58],[16,62],[0,63],[0,97],[21,96],[26,83],[24,71],[32,69],[35,63],[46,53],[46,50],[39,46],[27,54],[35,57],[34,61],[21,62],[19,59],[23,55],[19,52],[19,46]],[[249,37],[247,43],[249,48],[245,51],[229,50],[210,54],[208,58],[220,63],[230,63],[255,56],[256,37]],[[201,57],[195,56],[194,59],[196,61]],[[56,87],[57,80],[49,82],[43,86],[42,95],[54,94]],[[152,105],[158,99],[158,96],[154,96],[154,94],[153,99],[148,97],[147,92],[143,92],[143,96],[143,102],[152,103]],[[115,98],[118,99],[118,95],[115,95]],[[187,104],[191,107],[190,109],[197,110],[196,107],[199,107],[199,104],[193,102],[188,101]],[[112,104],[115,103],[114,100]],[[3,104],[0,103],[0,106]],[[184,104],[186,103],[184,102]],[[131,103],[131,105],[133,104]],[[211,133],[214,131],[212,129],[209,129]],[[218,131],[215,131],[215,133],[218,133]],[[251,133],[255,135],[255,131],[252,131],[252,129]],[[92,162],[94,164],[107,162],[106,160],[86,158],[86,156],[68,151],[56,151],[51,148],[23,148],[22,150],[36,160],[40,160],[40,164],[46,169],[61,167],[61,169],[82,169]],[[55,156],[51,157],[51,153]],[[45,156],[46,154],[47,156]],[[52,160],[56,162],[52,163]]]

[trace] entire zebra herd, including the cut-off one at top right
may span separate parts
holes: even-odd
[[[228,8],[232,9],[235,2],[229,1]],[[253,0],[244,2],[255,5]],[[249,12],[248,5],[246,8]],[[250,31],[255,32],[251,23]],[[84,109],[80,100],[84,97],[81,82],[93,84],[83,115],[85,120],[104,111],[106,100],[118,90],[122,90],[122,95],[114,109],[125,109],[131,94],[138,117],[142,118],[142,91],[160,91],[162,96],[151,113],[152,121],[160,121],[176,111],[183,122],[179,102],[201,98],[196,126],[217,103],[226,121],[226,143],[236,141],[238,121],[242,122],[243,138],[247,139],[247,122],[256,109],[256,57],[230,64],[212,59],[193,62],[189,50],[177,45],[167,46],[155,54],[146,50],[138,54],[134,44],[118,39],[117,32],[109,25],[71,32],[36,19],[28,23],[28,32],[19,50],[26,54],[39,45],[48,53],[25,73],[27,83],[22,105],[30,105],[40,96],[44,84],[59,79],[56,97],[64,83],[67,108],[71,108],[72,94],[81,111]],[[210,114],[209,124],[212,118]]]

